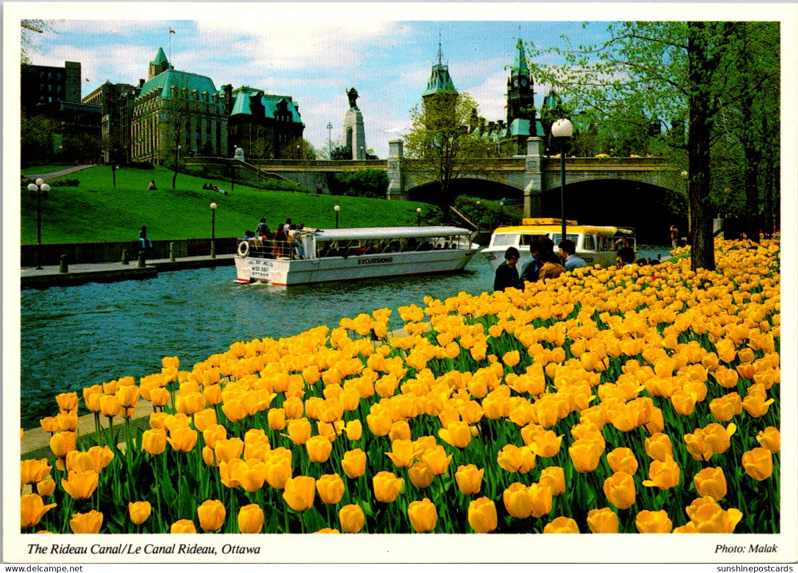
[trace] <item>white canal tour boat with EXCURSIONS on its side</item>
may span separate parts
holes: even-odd
[[[459,227],[292,231],[285,243],[239,243],[239,283],[297,285],[460,271],[479,250]]]

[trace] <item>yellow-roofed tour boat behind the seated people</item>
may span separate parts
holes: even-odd
[[[565,233],[566,238],[576,244],[576,255],[590,266],[613,266],[621,247],[637,250],[634,229],[631,227],[580,225],[566,219]],[[518,267],[521,268],[529,260],[532,239],[543,237],[551,239],[555,245],[555,253],[559,253],[557,245],[563,240],[562,219],[522,219],[521,225],[517,227],[499,227],[493,231],[488,247],[481,252],[496,269],[504,262],[504,251],[508,247],[516,247],[521,255],[518,262]]]

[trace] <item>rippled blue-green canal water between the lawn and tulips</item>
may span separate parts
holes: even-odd
[[[668,247],[638,246],[638,256],[668,255]],[[369,279],[290,288],[234,282],[234,267],[161,273],[156,279],[23,290],[22,427],[58,413],[55,395],[123,376],[160,371],[164,356],[181,369],[224,352],[233,342],[294,336],[314,326],[338,326],[379,308],[423,305],[425,296],[492,290],[493,271],[476,255],[447,275]]]

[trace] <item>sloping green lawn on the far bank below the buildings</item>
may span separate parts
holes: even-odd
[[[49,170],[49,166],[45,166]],[[142,225],[151,239],[188,239],[211,236],[211,202],[216,209],[216,236],[238,237],[255,230],[261,217],[275,228],[291,217],[306,227],[335,226],[334,205],[340,205],[340,227],[393,227],[415,225],[417,207],[428,215],[433,206],[412,201],[360,199],[311,195],[302,192],[258,191],[229,181],[179,173],[172,190],[172,172],[165,168],[121,168],[113,188],[109,166],[97,166],[67,176],[79,187],[53,188],[41,202],[42,243],[94,243],[133,240]],[[158,191],[148,191],[150,180]],[[53,180],[57,181],[57,180]],[[49,181],[49,183],[53,183]],[[227,196],[203,191],[214,181]],[[21,189],[22,243],[36,243],[36,200]]]

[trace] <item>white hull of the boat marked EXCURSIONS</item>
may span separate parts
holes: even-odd
[[[236,257],[239,283],[264,283],[278,286],[326,283],[391,277],[426,275],[462,270],[478,250],[435,249],[324,259],[261,259]]]

